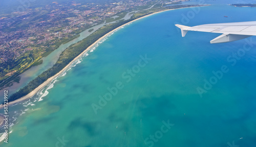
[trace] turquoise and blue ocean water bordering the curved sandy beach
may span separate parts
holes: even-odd
[[[182,38],[174,25],[255,21],[255,12],[218,4],[120,28],[36,96],[9,106],[12,132],[0,145],[256,146],[256,37],[210,44],[220,34]]]

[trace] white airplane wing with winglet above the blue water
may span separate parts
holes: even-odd
[[[256,36],[256,21],[213,23],[192,27],[180,24],[175,24],[175,26],[181,29],[182,37],[184,37],[188,31],[222,33],[221,36],[211,40],[210,43],[225,43]]]

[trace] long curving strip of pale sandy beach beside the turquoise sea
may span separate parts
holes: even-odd
[[[205,6],[209,6],[209,5],[205,5]],[[204,6],[194,6],[194,7],[204,7]],[[185,8],[193,8],[193,7],[185,7]],[[184,9],[184,8],[177,8],[177,9]],[[15,101],[12,101],[12,102],[9,102],[7,105],[13,105],[15,103],[18,103],[20,101],[23,101],[23,100],[26,100],[26,99],[29,99],[31,97],[33,97],[38,91],[40,91],[43,87],[45,87],[47,84],[49,84],[53,79],[57,78],[61,73],[63,73],[64,71],[66,71],[71,64],[73,64],[76,60],[78,60],[78,58],[80,58],[84,53],[86,53],[87,51],[89,51],[94,45],[96,45],[98,42],[100,42],[102,39],[104,39],[105,37],[108,37],[110,34],[114,33],[115,31],[119,30],[121,27],[127,25],[127,24],[130,24],[134,21],[137,21],[137,20],[140,20],[142,18],[145,18],[145,17],[149,17],[149,16],[152,16],[152,15],[155,15],[155,14],[158,14],[158,13],[162,13],[162,12],[166,12],[166,11],[171,11],[171,10],[177,10],[177,9],[168,9],[168,10],[163,10],[163,11],[159,11],[159,12],[154,12],[152,14],[148,14],[148,15],[145,15],[145,16],[142,16],[142,17],[139,17],[139,18],[136,18],[132,21],[129,21],[123,25],[120,25],[118,26],[117,28],[115,28],[114,30],[110,31],[109,33],[105,34],[104,36],[102,36],[101,38],[99,38],[97,41],[95,41],[93,44],[91,44],[89,47],[87,47],[84,51],[82,51],[78,56],[76,56],[67,66],[65,66],[65,68],[63,68],[61,71],[59,71],[57,74],[55,74],[54,76],[48,78],[44,83],[40,84],[38,87],[36,87],[36,89],[34,89],[32,92],[30,92],[28,95],[22,97],[22,98],[19,98]],[[2,109],[4,107],[3,104],[0,105],[0,109]]]

